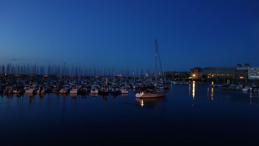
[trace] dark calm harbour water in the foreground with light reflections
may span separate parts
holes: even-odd
[[[1,145],[258,145],[259,93],[170,85],[163,98],[0,95]],[[74,97],[74,96],[73,96]]]

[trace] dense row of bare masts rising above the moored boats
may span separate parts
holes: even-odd
[[[76,79],[77,81],[82,80],[82,79],[91,79],[91,78],[101,78],[101,77],[123,77],[126,80],[128,79],[141,79],[143,77],[146,77],[146,73],[148,74],[148,78],[154,78],[154,72],[153,71],[148,71],[146,69],[138,69],[138,71],[136,71],[135,69],[132,69],[131,71],[131,75],[129,75],[129,70],[128,68],[126,68],[126,71],[123,71],[124,69],[121,69],[121,71],[116,71],[115,74],[115,69],[112,68],[112,71],[110,71],[110,68],[108,68],[108,73],[106,72],[106,68],[103,67],[102,69],[99,68],[94,68],[92,69],[92,67],[89,67],[89,69],[87,69],[86,67],[81,67],[81,65],[79,65],[79,67],[73,67],[69,69],[68,67],[65,66],[61,66],[61,65],[54,65],[54,64],[49,64],[49,66],[47,67],[47,74],[45,71],[44,66],[36,66],[35,65],[17,65],[17,64],[7,64],[7,68],[5,70],[5,66],[2,65],[0,66],[0,76],[2,76],[2,79],[6,80],[8,79],[14,79],[14,78],[30,78],[30,77],[34,77],[34,79],[38,79],[38,78],[42,78],[44,79],[44,77],[48,77],[48,79],[59,79],[59,78],[69,78],[72,77],[73,79]],[[144,71],[143,71],[144,70]],[[119,72],[119,73],[117,73]],[[87,74],[88,73],[88,74]],[[160,71],[159,73],[157,73],[157,76],[160,75]],[[161,72],[161,76],[163,76],[162,72]],[[172,77],[172,75],[171,75]]]

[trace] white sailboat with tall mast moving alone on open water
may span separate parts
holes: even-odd
[[[157,40],[155,40],[155,83],[154,83],[154,89],[145,90],[141,93],[136,93],[137,98],[154,98],[154,97],[165,97],[167,90],[159,90],[158,89],[158,81],[157,81]]]

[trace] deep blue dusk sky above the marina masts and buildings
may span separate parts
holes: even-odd
[[[0,0],[0,32],[5,67],[259,67],[258,0]]]

